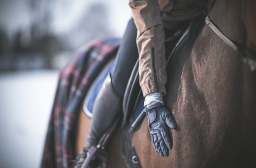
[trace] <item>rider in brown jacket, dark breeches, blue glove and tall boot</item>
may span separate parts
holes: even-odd
[[[204,12],[207,0],[130,0],[129,5],[132,19],[122,38],[114,68],[106,76],[95,100],[86,146],[72,167],[81,166],[86,151],[97,145],[120,111],[127,82],[138,58],[139,81],[153,146],[161,156],[166,156],[172,148],[168,127],[176,128],[176,124],[163,106],[167,80],[164,39]]]

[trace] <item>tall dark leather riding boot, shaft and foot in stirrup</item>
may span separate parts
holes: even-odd
[[[115,93],[112,86],[111,74],[108,74],[93,105],[93,118],[91,119],[86,146],[77,156],[75,163],[73,163],[71,167],[81,167],[84,159],[86,158],[87,150],[91,146],[97,146],[100,138],[106,130],[108,130],[111,123],[117,116],[121,106],[122,97]]]

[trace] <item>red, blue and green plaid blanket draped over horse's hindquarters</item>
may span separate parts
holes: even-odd
[[[60,71],[40,167],[71,166],[82,99],[103,66],[115,57],[119,42],[114,38],[95,40],[81,47]]]

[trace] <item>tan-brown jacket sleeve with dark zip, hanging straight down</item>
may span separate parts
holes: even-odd
[[[130,0],[134,22],[138,29],[139,75],[143,96],[166,94],[166,60],[164,30],[158,0]]]

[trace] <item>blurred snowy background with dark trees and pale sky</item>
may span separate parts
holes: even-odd
[[[0,0],[0,167],[39,167],[58,71],[80,46],[122,37],[129,1]]]

